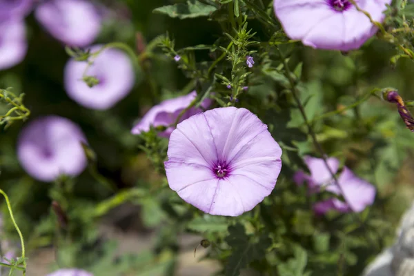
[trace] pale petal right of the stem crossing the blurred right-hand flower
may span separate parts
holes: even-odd
[[[353,172],[344,168],[339,175],[338,183],[344,192],[344,199],[354,212],[362,212],[366,206],[373,204],[375,199],[375,187],[356,177]]]

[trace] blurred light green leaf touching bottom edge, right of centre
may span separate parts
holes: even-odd
[[[277,266],[277,272],[280,276],[304,276],[308,273],[304,273],[306,264],[308,263],[308,254],[306,250],[301,246],[295,246],[293,248],[295,257],[289,259],[284,264]]]

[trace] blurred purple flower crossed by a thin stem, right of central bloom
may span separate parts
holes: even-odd
[[[335,195],[342,195],[345,202],[339,199],[332,198],[326,201],[315,204],[315,212],[322,214],[328,210],[337,210],[339,212],[362,212],[366,206],[373,204],[375,199],[375,187],[369,184],[364,179],[360,179],[353,174],[353,172],[344,167],[342,172],[339,174],[337,184],[331,172],[326,168],[323,159],[314,157],[305,157],[304,161],[311,172],[311,175],[306,175],[303,171],[299,171],[293,177],[293,180],[297,184],[303,184],[304,181],[308,183],[309,190],[311,193],[318,192],[322,188],[328,190]],[[339,160],[335,158],[327,159],[328,166],[331,168],[333,173],[337,173],[339,169]]]

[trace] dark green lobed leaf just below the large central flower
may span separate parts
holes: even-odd
[[[238,276],[240,269],[257,259],[264,258],[266,248],[272,243],[266,235],[259,238],[246,235],[244,226],[241,224],[230,226],[228,232],[230,235],[226,237],[226,242],[233,248],[233,254],[228,258],[226,276]]]

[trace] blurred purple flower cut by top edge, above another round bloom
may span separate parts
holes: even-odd
[[[101,17],[90,1],[46,0],[34,16],[53,37],[70,46],[88,46],[101,30]]]

